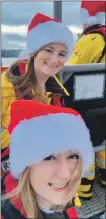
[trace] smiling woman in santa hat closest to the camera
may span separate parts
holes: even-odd
[[[79,204],[81,177],[94,158],[81,115],[17,100],[11,105],[8,130],[10,173],[2,178],[2,219],[77,218],[72,206]]]

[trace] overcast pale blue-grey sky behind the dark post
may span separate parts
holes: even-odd
[[[81,31],[80,1],[63,2],[63,22],[68,25],[76,39]],[[24,49],[27,26],[38,13],[53,17],[53,2],[2,2],[2,48]]]

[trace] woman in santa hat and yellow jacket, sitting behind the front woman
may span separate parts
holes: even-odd
[[[11,103],[23,98],[53,104],[50,92],[68,95],[55,75],[64,67],[72,49],[73,34],[67,26],[40,13],[33,17],[28,26],[26,51],[24,57],[21,57],[21,59],[27,57],[27,65],[19,60],[1,77],[3,172],[9,169],[10,135],[7,127]]]

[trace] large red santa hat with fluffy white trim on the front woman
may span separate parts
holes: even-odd
[[[73,110],[18,100],[11,105],[10,170],[15,178],[54,153],[78,152],[83,173],[93,163],[89,130],[81,115]]]

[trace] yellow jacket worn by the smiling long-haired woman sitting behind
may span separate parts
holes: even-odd
[[[57,85],[59,85],[64,93],[68,95],[67,90],[61,84],[56,76],[54,76]],[[10,106],[16,100],[14,86],[6,78],[5,72],[1,75],[1,149],[8,147],[10,143],[10,134],[8,132],[8,125],[10,123]],[[51,98],[49,95],[51,92],[46,92],[48,97],[48,103],[50,103]]]

